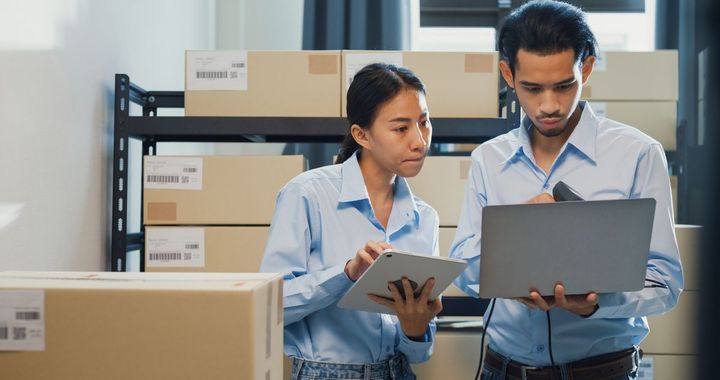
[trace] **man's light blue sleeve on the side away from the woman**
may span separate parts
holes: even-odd
[[[683,273],[675,239],[670,177],[660,144],[650,145],[638,160],[630,198],[656,202],[645,288],[599,295],[600,307],[589,318],[632,318],[664,313],[675,306]]]

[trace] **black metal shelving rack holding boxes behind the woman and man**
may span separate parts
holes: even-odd
[[[504,92],[506,118],[433,118],[433,144],[481,143],[517,128],[520,106],[512,91]],[[342,117],[188,117],[157,116],[158,108],[184,108],[182,91],[146,91],[126,74],[115,75],[113,139],[112,241],[110,270],[125,271],[127,252],[141,252],[143,230],[127,232],[129,140],[142,141],[142,154],[154,155],[158,142],[340,142],[347,131]],[[130,103],[142,116],[130,116]],[[140,201],[142,204],[142,200]],[[459,298],[454,302],[451,298]],[[485,302],[445,297],[445,315],[481,315]],[[468,310],[470,307],[471,310]],[[470,314],[468,314],[470,313]]]

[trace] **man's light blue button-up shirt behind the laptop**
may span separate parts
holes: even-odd
[[[450,257],[469,263],[455,284],[477,297],[483,207],[525,203],[542,192],[552,193],[558,181],[587,200],[655,198],[646,275],[651,281],[646,280],[642,291],[599,294],[599,309],[589,318],[551,309],[556,364],[638,345],[648,333],[645,316],[672,308],[683,286],[662,146],[635,128],[597,117],[586,102],[580,107],[580,121],[547,174],[533,158],[532,125],[527,118],[520,128],[472,152],[464,206],[450,248]],[[517,235],[521,239],[522,231]],[[648,287],[653,281],[666,288]],[[488,326],[493,350],[528,365],[549,365],[547,332],[544,311],[530,310],[514,300],[496,300]]]

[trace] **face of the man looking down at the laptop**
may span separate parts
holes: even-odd
[[[505,61],[500,62],[500,70],[508,85],[515,89],[520,106],[535,129],[543,136],[554,137],[567,130],[594,61],[594,57],[588,57],[581,66],[572,49],[544,55],[520,49],[515,75]]]

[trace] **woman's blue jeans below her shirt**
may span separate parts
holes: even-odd
[[[290,375],[290,380],[415,380],[415,378],[415,373],[403,354],[398,354],[390,360],[370,364],[326,363],[293,358]]]

